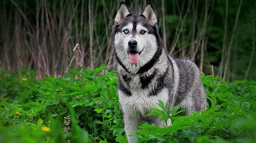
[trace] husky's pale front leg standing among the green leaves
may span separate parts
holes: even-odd
[[[139,129],[140,120],[137,116],[125,116],[124,114],[124,127],[129,143],[135,143],[135,138],[129,135]]]

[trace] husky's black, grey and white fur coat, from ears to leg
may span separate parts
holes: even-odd
[[[131,40],[136,41],[135,46],[129,46]],[[141,123],[164,127],[160,116],[145,116],[152,112],[150,107],[159,108],[158,100],[169,102],[169,110],[180,105],[187,115],[206,109],[206,94],[197,65],[176,59],[165,50],[152,4],[148,3],[140,15],[133,15],[121,2],[112,47],[118,62],[118,94],[129,142],[135,142],[129,135]],[[130,52],[139,53],[137,63],[128,59]],[[167,122],[171,124],[170,120]]]

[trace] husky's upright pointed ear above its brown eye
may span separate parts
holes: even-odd
[[[143,12],[141,13],[141,15],[143,15],[151,25],[157,24],[156,13],[155,13],[153,6],[150,2],[146,5],[146,7],[143,10]]]

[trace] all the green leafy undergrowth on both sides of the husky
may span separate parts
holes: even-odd
[[[117,74],[106,70],[70,69],[42,81],[36,71],[1,71],[0,142],[127,143]],[[254,142],[256,81],[228,83],[202,74],[202,82],[207,110],[180,116],[179,106],[169,110],[159,100],[147,116],[160,115],[166,127],[140,125],[133,135],[138,142]]]

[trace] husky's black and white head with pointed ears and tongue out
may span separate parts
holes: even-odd
[[[117,62],[127,72],[145,72],[154,65],[161,54],[162,43],[151,3],[140,15],[133,15],[121,2],[115,17],[112,44]]]

